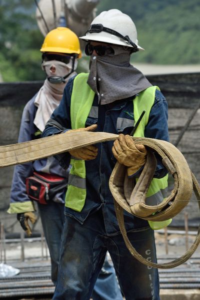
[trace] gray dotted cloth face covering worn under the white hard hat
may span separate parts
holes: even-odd
[[[134,96],[151,86],[145,76],[129,64],[129,51],[119,46],[111,47],[114,55],[92,55],[90,58],[87,84],[98,95],[100,104]]]

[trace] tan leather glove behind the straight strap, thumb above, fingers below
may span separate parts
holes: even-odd
[[[86,128],[78,128],[78,129],[72,129],[72,130],[69,130],[67,132],[77,132],[77,131],[94,131],[96,129],[97,125],[94,124],[94,125],[91,125],[91,126],[88,126]],[[90,159],[95,159],[96,156],[97,156],[97,151],[98,149],[93,146],[93,145],[88,145],[88,146],[85,146],[85,147],[81,147],[81,148],[78,148],[78,149],[74,149],[74,150],[70,150],[69,153],[74,156],[75,158],[78,158],[78,159],[82,159],[82,160],[90,160]]]

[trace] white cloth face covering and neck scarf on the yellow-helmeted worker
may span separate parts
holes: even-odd
[[[76,67],[77,59],[75,59],[74,62],[74,70]],[[64,77],[72,70],[72,59],[68,64],[64,64],[55,60],[43,62],[42,69],[45,71],[47,77]],[[65,78],[64,82],[61,83],[51,83],[47,79],[44,81],[43,86],[40,88],[34,100],[34,105],[37,107],[37,111],[33,123],[40,131],[44,130],[46,122],[49,120],[52,112],[60,103],[64,88],[69,78],[74,75],[76,75],[76,73],[72,72],[68,77]]]

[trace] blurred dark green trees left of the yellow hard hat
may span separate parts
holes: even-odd
[[[4,81],[44,79],[40,34],[29,0],[0,1],[0,73]]]

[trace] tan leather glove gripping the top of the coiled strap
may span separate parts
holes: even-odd
[[[112,153],[120,164],[128,167],[128,176],[136,173],[146,161],[146,148],[135,144],[129,135],[119,134],[113,143]]]

